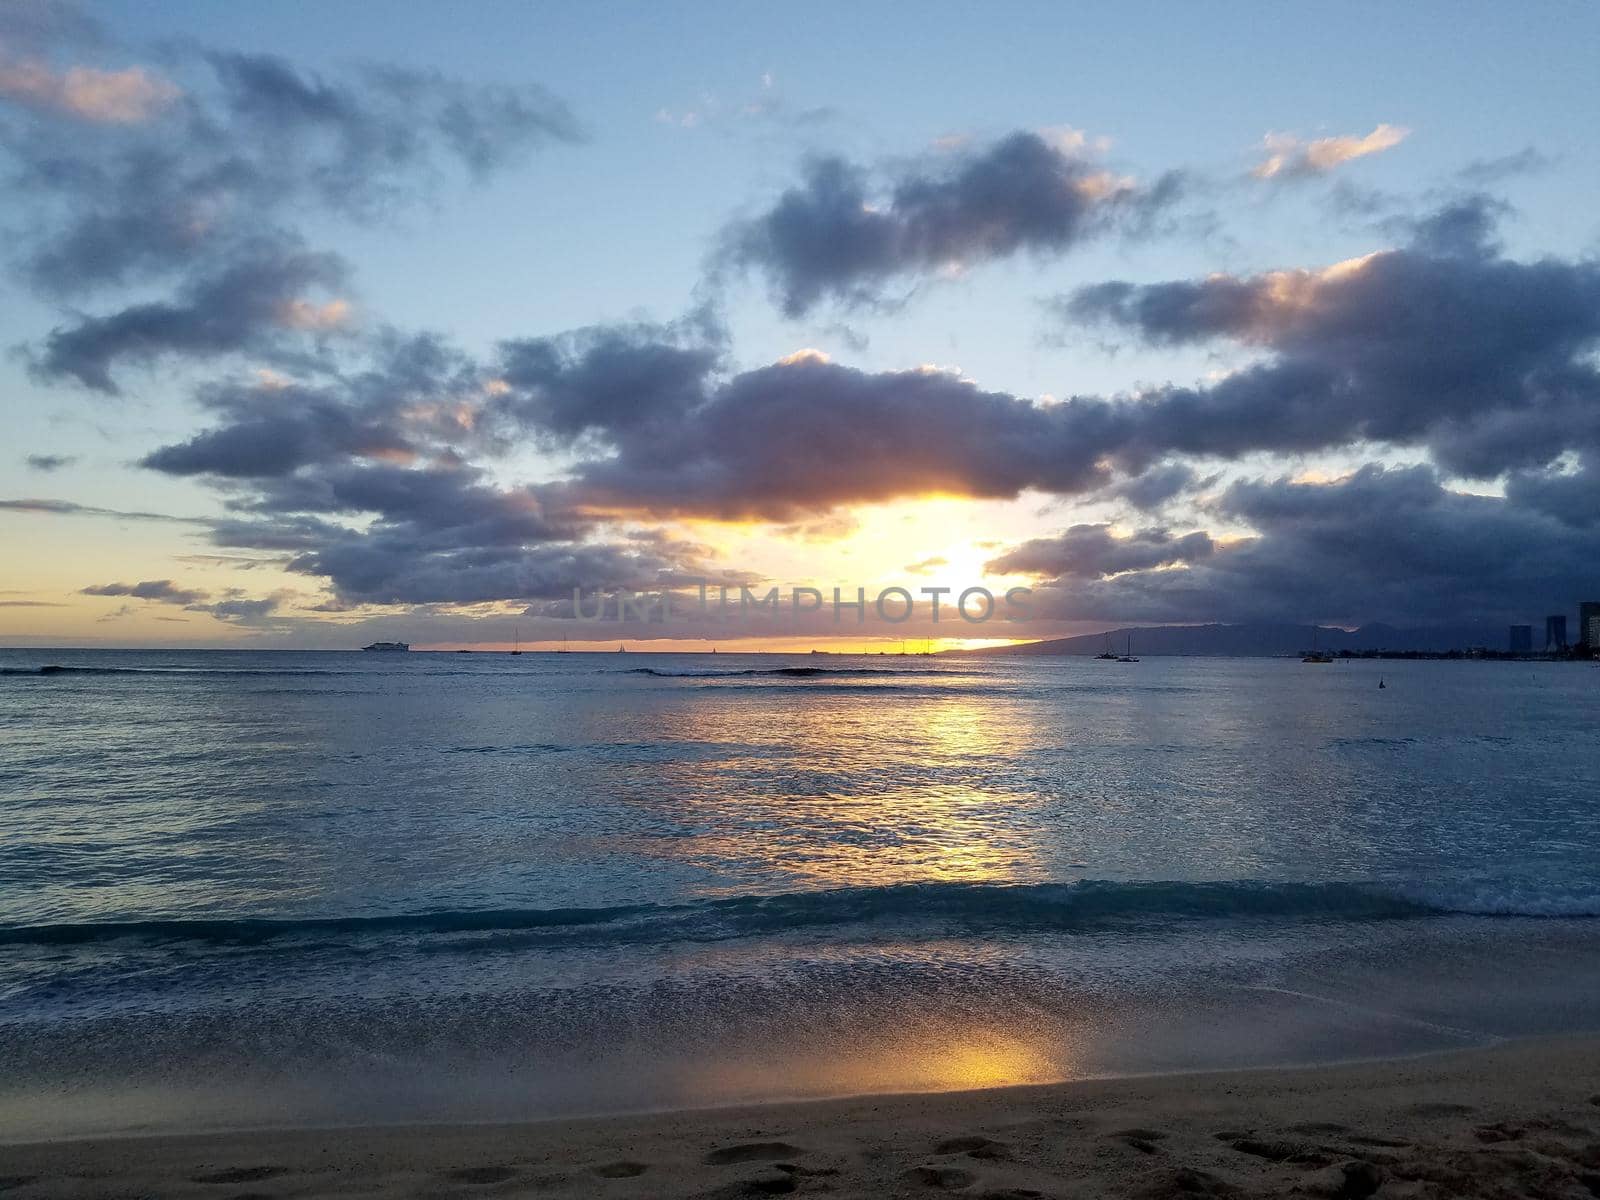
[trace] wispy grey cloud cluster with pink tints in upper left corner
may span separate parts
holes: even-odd
[[[82,51],[48,22],[38,37]],[[94,86],[77,93],[53,59],[6,69],[0,61],[10,256],[37,294],[75,306],[32,350],[34,368],[101,392],[117,390],[125,363],[168,355],[317,355],[349,280],[336,256],[306,248],[301,221],[382,221],[451,173],[482,179],[582,138],[536,86],[381,64],[331,77],[186,48],[165,74],[94,69]],[[146,294],[128,302],[133,290]],[[83,310],[91,299],[112,307]]]

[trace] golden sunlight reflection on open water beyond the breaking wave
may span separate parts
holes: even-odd
[[[934,675],[907,694],[906,678],[808,683],[805,702],[786,707],[781,722],[738,686],[707,688],[714,699],[651,714],[645,725],[635,714],[630,736],[728,749],[662,765],[656,781],[677,818],[698,829],[693,842],[638,838],[629,853],[758,864],[792,891],[1045,878],[1040,846],[1013,835],[1038,798],[989,782],[1043,734],[1014,715],[995,720],[958,682],[946,686]],[[814,792],[766,766],[794,755],[853,782]],[[749,782],[738,795],[728,794],[730,766]],[[930,786],[930,773],[939,782]]]

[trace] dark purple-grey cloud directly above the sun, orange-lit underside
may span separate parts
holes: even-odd
[[[570,488],[602,507],[770,520],[928,493],[1077,493],[1109,478],[1122,422],[1099,402],[797,357],[710,382],[670,419],[608,429],[611,453],[579,462]]]

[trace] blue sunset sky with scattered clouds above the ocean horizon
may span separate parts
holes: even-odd
[[[1576,611],[1597,34],[0,0],[0,645]]]

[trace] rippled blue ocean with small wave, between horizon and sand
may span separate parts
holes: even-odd
[[[0,1138],[1600,1029],[1597,733],[1582,664],[0,651]]]

